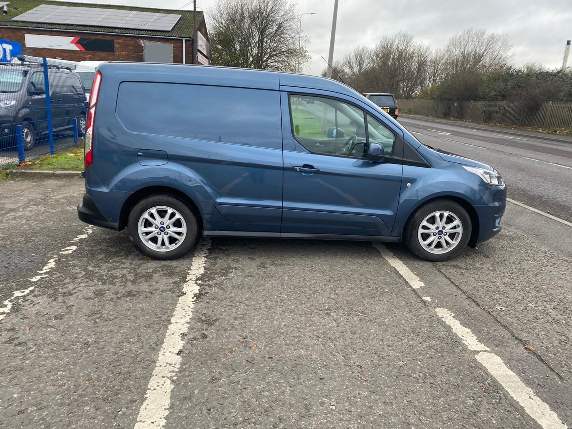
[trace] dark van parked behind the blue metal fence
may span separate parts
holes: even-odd
[[[51,118],[54,132],[71,130],[77,118],[78,132],[85,132],[85,90],[76,73],[49,67]],[[22,125],[24,149],[47,136],[46,89],[42,67],[0,65],[0,142],[16,144],[17,124]]]

